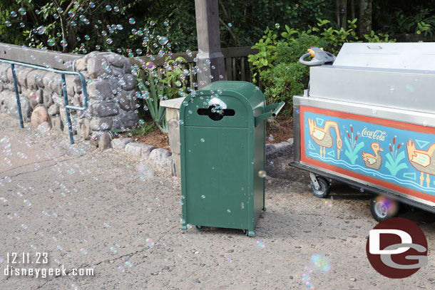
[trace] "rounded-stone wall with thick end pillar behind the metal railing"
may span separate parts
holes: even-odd
[[[70,110],[73,133],[86,140],[109,140],[98,143],[110,145],[109,130],[131,128],[138,122],[135,76],[130,61],[116,53],[93,52],[76,58],[69,66],[70,70],[83,74],[88,91],[88,110]],[[16,66],[15,71],[24,121],[31,121],[39,129],[68,133],[61,74],[22,66]],[[66,75],[66,88],[68,103],[82,107],[84,96],[80,78]],[[0,112],[19,118],[8,63],[0,63]]]

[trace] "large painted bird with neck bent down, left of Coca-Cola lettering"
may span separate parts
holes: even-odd
[[[340,138],[340,131],[337,123],[334,121],[326,121],[324,127],[320,128],[316,125],[316,121],[308,118],[309,135],[311,136],[314,143],[320,146],[320,156],[326,155],[326,148],[331,148],[334,145],[332,140],[331,128],[334,128],[335,135],[337,136],[337,160],[340,158],[340,150],[343,147],[342,138]]]

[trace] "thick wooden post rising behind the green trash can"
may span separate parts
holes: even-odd
[[[198,54],[196,66],[198,88],[203,88],[225,76],[225,62],[220,51],[218,0],[195,0]],[[214,68],[213,68],[214,67]]]

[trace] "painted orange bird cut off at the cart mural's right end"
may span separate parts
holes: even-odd
[[[429,175],[435,175],[435,143],[428,150],[418,150],[415,143],[409,139],[406,144],[408,159],[411,165],[421,172],[420,185],[423,186],[424,173],[426,173],[426,185],[429,187],[431,178]]]

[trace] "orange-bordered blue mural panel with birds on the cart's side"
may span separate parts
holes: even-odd
[[[301,161],[435,202],[435,128],[300,107]]]

